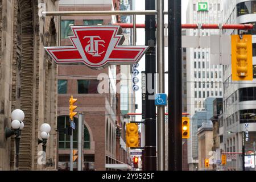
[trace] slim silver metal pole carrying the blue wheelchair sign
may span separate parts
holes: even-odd
[[[157,27],[156,27],[156,59],[158,65],[158,93],[164,93],[164,1],[156,1]],[[164,115],[165,106],[158,106],[158,171],[165,168],[165,133]]]

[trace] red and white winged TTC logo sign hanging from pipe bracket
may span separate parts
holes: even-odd
[[[101,69],[109,64],[135,64],[148,46],[121,46],[120,26],[71,26],[73,46],[45,47],[56,63],[84,63]]]

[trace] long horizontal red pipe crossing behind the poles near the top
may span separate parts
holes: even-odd
[[[133,23],[114,23],[113,25],[121,26],[122,28],[133,28]],[[136,28],[145,28],[145,24],[136,24]],[[198,24],[182,24],[181,28],[198,28]],[[202,24],[202,29],[219,29],[218,24]],[[222,29],[253,29],[253,24],[223,24]]]

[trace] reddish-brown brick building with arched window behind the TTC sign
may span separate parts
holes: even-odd
[[[60,1],[60,11],[119,10],[119,1]],[[70,24],[109,25],[120,22],[120,16],[62,16],[61,46],[70,45]],[[125,44],[130,44],[129,34]],[[111,65],[95,71],[85,65],[59,65],[58,128],[69,126],[69,97],[77,98],[77,111],[84,114],[84,169],[129,169],[129,150],[125,143],[125,114],[135,111],[134,96],[129,95],[129,78],[120,81],[119,73],[130,73],[130,66]],[[104,75],[102,75],[104,74]],[[100,76],[102,75],[102,76]],[[100,77],[99,77],[100,76]],[[99,78],[103,78],[100,81]],[[101,93],[100,85],[106,82]],[[100,87],[98,87],[100,86]],[[76,119],[75,119],[76,122]],[[74,134],[77,136],[77,133]],[[74,148],[77,137],[73,138]],[[75,163],[76,164],[76,163]],[[74,166],[75,167],[75,166]],[[59,169],[69,168],[69,136],[59,136]]]

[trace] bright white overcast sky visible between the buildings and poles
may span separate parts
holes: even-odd
[[[135,10],[145,10],[145,1],[147,0],[135,0]],[[156,0],[158,1],[158,0]],[[175,0],[174,0],[175,1]],[[186,10],[187,10],[187,5],[188,5],[188,1],[189,0],[181,0],[181,11],[182,11],[182,23],[186,22]],[[167,11],[168,7],[168,0],[164,0],[164,11]],[[167,22],[167,15],[165,16],[165,22]],[[137,23],[144,23],[145,19],[144,19],[144,15],[137,15],[136,16],[136,22]],[[137,45],[138,46],[143,46],[145,44],[145,31],[143,28],[138,28],[137,29]],[[165,71],[167,71],[168,68],[168,63],[167,63],[167,56],[168,56],[168,52],[167,52],[167,48],[165,49],[165,57],[166,57],[166,61],[165,61]],[[141,72],[145,70],[145,56],[143,56],[143,58],[141,59],[141,61],[139,61],[139,75],[137,76],[139,78],[139,82],[138,82],[138,86],[139,86],[139,90],[135,93],[136,95],[136,104],[138,104],[138,109],[136,110],[136,113],[141,113],[142,112],[142,93],[141,93]],[[166,92],[167,92],[167,88],[168,88],[168,80],[167,80],[167,74],[166,74],[166,79],[165,79],[165,87],[166,87]],[[141,116],[136,117],[136,121],[141,121]]]

